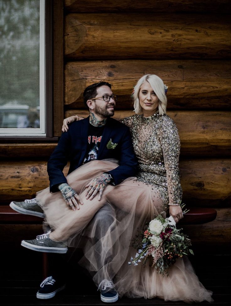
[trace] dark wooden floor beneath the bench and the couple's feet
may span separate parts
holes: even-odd
[[[54,298],[40,300],[36,292],[43,279],[41,253],[28,250],[9,252],[1,261],[0,304],[1,305],[105,305],[99,298],[99,291],[80,268],[72,263],[67,287]],[[20,256],[19,256],[20,254]],[[33,257],[32,257],[33,256]],[[213,305],[230,304],[231,255],[195,254],[190,258],[203,285],[213,291]],[[184,302],[165,302],[155,298],[121,298],[119,305],[187,305]],[[209,304],[203,302],[202,304]]]

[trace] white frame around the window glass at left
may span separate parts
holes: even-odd
[[[40,128],[0,128],[0,137],[46,136],[45,38],[45,0],[40,0]]]

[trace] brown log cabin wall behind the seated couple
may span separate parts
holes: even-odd
[[[213,207],[216,220],[186,226],[198,246],[231,242],[231,47],[228,0],[62,0],[64,54],[54,48],[54,136],[64,116],[87,116],[82,93],[100,80],[119,95],[115,117],[132,114],[130,95],[144,74],[168,85],[167,114],[178,127],[183,202]],[[55,33],[54,40],[60,36]],[[64,80],[63,80],[64,79]],[[64,98],[62,101],[62,82]],[[31,199],[49,184],[46,162],[56,144],[1,144],[1,204]],[[65,169],[67,172],[67,168]],[[3,226],[5,231],[6,226]],[[16,227],[17,229],[18,227]],[[20,228],[20,231],[22,229]],[[37,230],[37,227],[36,227]],[[9,231],[9,227],[8,227]],[[11,237],[15,234],[12,229]],[[13,234],[12,234],[13,233]],[[38,234],[36,232],[35,234]],[[29,238],[23,236],[22,238]],[[34,237],[32,237],[34,238]],[[8,235],[8,239],[9,235]],[[13,239],[13,238],[12,238]]]

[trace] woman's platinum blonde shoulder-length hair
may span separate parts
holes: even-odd
[[[142,78],[138,80],[136,86],[134,87],[134,93],[133,93],[134,112],[136,114],[142,113],[142,107],[140,106],[140,100],[139,100],[139,92],[141,85],[145,81],[148,81],[148,83],[151,85],[152,89],[154,90],[155,94],[159,99],[158,103],[159,115],[166,114],[167,97],[165,94],[164,82],[155,74],[145,74],[144,76],[142,76]]]

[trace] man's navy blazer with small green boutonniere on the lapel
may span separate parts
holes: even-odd
[[[63,174],[63,168],[70,160],[69,172],[83,165],[87,155],[89,117],[75,121],[69,125],[67,132],[62,133],[58,145],[47,163],[47,172],[50,180],[50,191],[57,191],[57,184],[67,183]],[[109,140],[116,143],[115,149],[107,149]],[[99,146],[99,160],[115,158],[119,160],[119,166],[109,171],[115,185],[124,179],[135,176],[137,161],[133,151],[132,139],[129,128],[113,119],[108,118]]]

